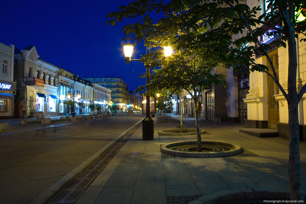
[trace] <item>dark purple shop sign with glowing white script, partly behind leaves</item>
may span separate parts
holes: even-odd
[[[276,27],[279,28],[279,25],[277,25]],[[270,51],[272,51],[272,50],[274,50],[276,48],[276,43],[274,43],[273,45],[272,45],[272,43],[277,41],[277,40],[281,41],[282,38],[281,38],[281,36],[274,36],[274,35],[268,36],[267,33],[273,32],[273,31],[276,31],[276,30],[274,30],[273,28],[268,27],[267,25],[263,25],[261,28],[263,28],[264,34],[258,36],[258,40],[260,42],[260,45],[263,44],[263,43],[267,44],[267,45],[270,45],[271,49],[267,50],[267,52],[270,52]],[[255,43],[255,48],[256,49],[259,48],[259,44],[258,43]],[[255,54],[255,58],[261,57],[262,55],[263,55],[263,53],[262,54]]]

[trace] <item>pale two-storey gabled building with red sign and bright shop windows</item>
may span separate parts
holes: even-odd
[[[16,117],[36,117],[39,111],[46,116],[57,114],[59,71],[59,67],[39,59],[34,45],[15,49],[16,105],[29,107],[25,112],[15,109]]]

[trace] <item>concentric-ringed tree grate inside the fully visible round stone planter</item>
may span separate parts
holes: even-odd
[[[198,152],[196,145],[181,145],[170,147],[169,149],[182,152]],[[231,148],[222,145],[202,145],[202,152],[223,152],[228,150],[231,150]]]

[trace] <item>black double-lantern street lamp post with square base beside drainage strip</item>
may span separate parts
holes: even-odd
[[[126,44],[123,46],[125,61],[129,63],[130,61],[140,61],[139,59],[132,59],[132,52],[134,46],[131,44]],[[172,50],[170,46],[164,47],[165,55],[171,52]],[[168,50],[168,51],[166,51]],[[150,53],[150,46],[146,46],[146,54]],[[146,68],[146,86],[150,83],[150,68],[148,65],[145,65]],[[150,96],[146,95],[146,117],[142,121],[142,140],[153,140],[154,139],[154,121],[150,117]]]

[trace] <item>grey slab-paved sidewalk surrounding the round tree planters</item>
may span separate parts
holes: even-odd
[[[178,118],[178,117],[177,117]],[[154,140],[142,140],[140,127],[107,164],[76,204],[189,203],[201,195],[241,188],[288,189],[288,140],[257,138],[239,132],[244,124],[203,122],[202,141],[232,143],[243,154],[220,158],[184,158],[163,155],[160,146],[196,140],[196,135],[159,136],[177,124],[156,123]],[[179,118],[178,118],[179,119]],[[184,117],[184,128],[195,128]],[[306,189],[306,143],[301,143],[302,185]]]

